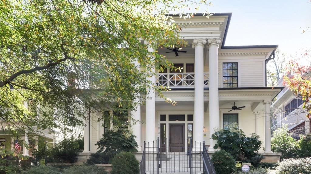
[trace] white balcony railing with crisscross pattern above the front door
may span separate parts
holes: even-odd
[[[208,87],[209,73],[204,73],[204,87]],[[193,88],[195,83],[194,72],[186,73],[156,73],[156,85],[169,88]]]

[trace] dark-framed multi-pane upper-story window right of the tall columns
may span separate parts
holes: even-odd
[[[238,63],[222,64],[222,82],[224,88],[238,87]]]

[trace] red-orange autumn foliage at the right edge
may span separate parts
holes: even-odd
[[[298,56],[297,56],[298,57]],[[294,95],[300,95],[304,101],[303,109],[306,109],[308,118],[311,118],[311,54],[306,50],[299,58],[290,61],[284,85],[292,90]],[[305,62],[305,63],[301,63]]]

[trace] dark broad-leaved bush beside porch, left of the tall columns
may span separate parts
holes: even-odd
[[[98,152],[108,152],[110,150],[115,152],[137,152],[136,147],[138,147],[135,136],[128,130],[106,131],[95,145],[98,146]]]

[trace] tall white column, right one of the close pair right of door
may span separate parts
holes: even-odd
[[[209,48],[209,127],[210,137],[219,128],[219,100],[218,100],[218,48],[220,38],[208,39]],[[209,150],[214,150],[215,141],[210,139]]]

